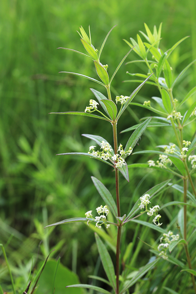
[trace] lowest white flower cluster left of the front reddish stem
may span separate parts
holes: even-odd
[[[96,208],[96,211],[98,213],[99,216],[96,216],[95,218],[93,218],[93,215],[92,215],[92,210],[90,211],[87,211],[85,213],[85,216],[86,218],[88,219],[87,221],[87,225],[89,225],[89,222],[92,222],[92,221],[96,221],[96,227],[97,228],[101,228],[101,225],[105,224],[106,225],[106,229],[110,228],[110,224],[107,223],[106,221],[106,216],[108,215],[109,213],[109,210],[107,208],[107,205],[103,206],[99,206]],[[101,214],[102,213],[102,214]],[[101,215],[100,215],[101,214]],[[105,216],[106,214],[106,216]],[[93,220],[90,220],[90,218],[92,218]],[[101,223],[100,223],[101,222]]]

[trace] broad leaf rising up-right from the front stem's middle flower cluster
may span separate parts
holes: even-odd
[[[127,152],[129,150],[129,148],[131,147],[133,149],[133,147],[135,147],[136,143],[138,142],[139,138],[141,137],[141,135],[143,134],[143,132],[145,131],[145,129],[147,128],[148,124],[151,121],[151,117],[147,118],[147,120],[145,120],[143,123],[141,123],[136,130],[133,132],[133,134],[130,136],[126,146],[125,146],[125,152]],[[126,158],[128,156],[128,154],[125,154],[124,158]]]

